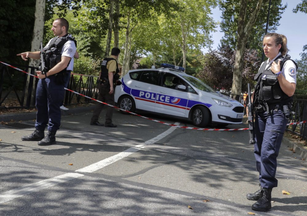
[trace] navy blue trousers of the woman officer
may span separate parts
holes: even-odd
[[[260,112],[255,119],[255,158],[261,187],[277,187],[275,178],[277,156],[286,130],[287,120],[282,110],[272,114]]]

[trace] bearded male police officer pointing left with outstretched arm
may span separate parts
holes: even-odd
[[[64,18],[55,19],[52,31],[56,36],[49,41],[45,50],[45,65],[49,69],[45,74],[36,71],[39,78],[36,90],[35,131],[29,136],[21,137],[23,141],[39,141],[38,145],[56,143],[55,134],[60,127],[60,106],[64,100],[65,75],[73,68],[72,58],[76,52],[76,41],[68,35],[69,24]],[[17,54],[23,60],[39,59],[40,51]],[[48,132],[44,130],[48,124]]]

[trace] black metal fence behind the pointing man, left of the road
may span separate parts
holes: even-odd
[[[11,64],[23,71],[36,75],[37,67]],[[98,76],[71,74],[68,89],[97,99]],[[35,107],[38,79],[14,68],[0,64],[0,110],[30,109]],[[66,91],[64,105],[91,102],[90,99]]]

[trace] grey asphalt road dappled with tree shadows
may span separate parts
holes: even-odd
[[[119,111],[117,128],[91,126],[90,118],[64,116],[57,144],[45,147],[20,139],[33,120],[0,125],[1,216],[307,215],[307,162],[286,145],[272,209],[261,213],[246,199],[259,189],[247,131],[180,129]]]

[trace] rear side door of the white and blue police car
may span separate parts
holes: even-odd
[[[137,109],[154,112],[159,79],[159,71],[146,70],[142,72],[139,81],[133,82],[131,94]]]

